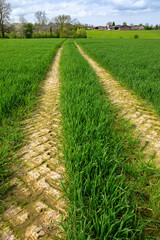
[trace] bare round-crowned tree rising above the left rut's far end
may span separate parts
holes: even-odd
[[[64,26],[71,23],[71,17],[69,15],[59,15],[58,17],[54,18],[54,23],[56,24],[56,29],[58,35],[60,36]]]

